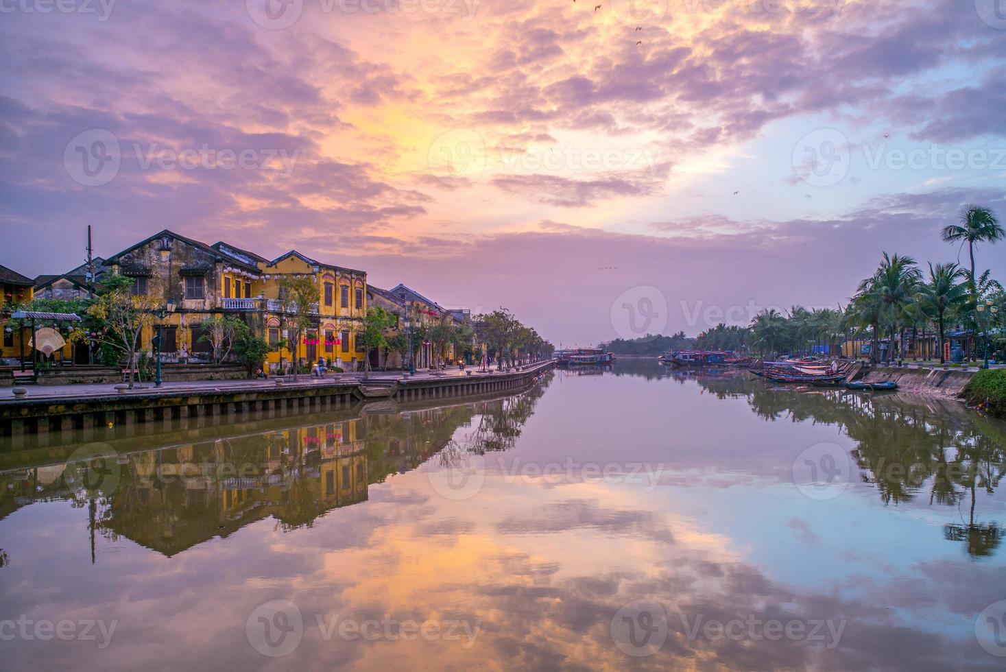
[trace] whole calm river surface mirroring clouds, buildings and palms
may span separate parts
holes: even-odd
[[[623,360],[0,448],[6,669],[1006,667],[1006,427],[954,404]]]

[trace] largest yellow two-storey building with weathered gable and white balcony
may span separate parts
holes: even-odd
[[[156,294],[159,307],[169,311],[145,329],[141,349],[151,347],[158,324],[163,325],[162,360],[199,362],[211,359],[212,347],[202,338],[208,318],[232,315],[276,348],[266,365],[279,370],[281,360],[309,366],[319,357],[355,368],[362,352],[354,332],[366,315],[366,274],[325,264],[291,250],[269,261],[223,241],[212,245],[170,230],[160,231],[105,261],[112,273],[134,279],[134,293]],[[280,301],[280,279],[310,278],[318,287],[312,317],[315,326],[299,343],[292,337],[292,315]],[[30,281],[29,281],[30,282]]]

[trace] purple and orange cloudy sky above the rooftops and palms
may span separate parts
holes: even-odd
[[[0,0],[0,54],[29,277],[169,228],[589,345],[1006,218],[1006,0]]]

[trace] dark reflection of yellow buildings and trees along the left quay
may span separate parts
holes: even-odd
[[[171,556],[269,517],[284,530],[311,526],[328,511],[366,501],[370,484],[415,469],[446,448],[457,450],[457,430],[471,427],[473,418],[478,427],[467,436],[466,450],[506,450],[542,392],[364,411],[339,422],[136,452],[90,445],[104,447],[106,458],[0,474],[0,519],[38,501],[88,507],[93,558],[96,534]],[[98,470],[104,478],[96,478]]]

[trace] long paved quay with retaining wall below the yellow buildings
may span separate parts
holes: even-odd
[[[21,450],[28,448],[27,444],[41,448],[57,440],[129,438],[175,424],[201,428],[232,418],[327,411],[362,403],[393,404],[514,391],[530,385],[554,365],[554,360],[548,360],[519,370],[415,377],[203,381],[115,393],[106,389],[74,391],[67,385],[33,388],[23,399],[0,399],[0,446],[3,450]]]

